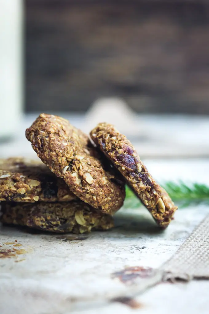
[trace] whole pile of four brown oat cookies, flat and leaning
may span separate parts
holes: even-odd
[[[177,207],[127,138],[107,123],[90,136],[59,116],[41,114],[26,130],[41,161],[0,160],[1,221],[53,232],[109,229],[126,182],[167,227]]]

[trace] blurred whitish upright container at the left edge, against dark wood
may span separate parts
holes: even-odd
[[[0,141],[18,133],[23,110],[23,1],[0,0]]]

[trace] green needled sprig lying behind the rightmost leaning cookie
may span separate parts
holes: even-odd
[[[209,205],[209,187],[205,184],[192,183],[186,185],[184,182],[179,183],[165,182],[162,185],[168,192],[172,200],[181,208],[187,207],[191,204],[205,203]],[[126,186],[126,199],[124,202],[125,208],[138,208],[141,202],[135,196],[133,191]]]

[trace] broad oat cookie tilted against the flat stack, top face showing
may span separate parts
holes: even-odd
[[[41,114],[26,130],[38,157],[82,201],[113,214],[125,198],[120,173],[101,159],[101,152],[91,145],[88,136],[67,120]],[[102,156],[103,158],[103,156]]]

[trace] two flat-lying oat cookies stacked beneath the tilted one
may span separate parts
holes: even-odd
[[[53,232],[109,229],[112,217],[73,194],[41,161],[0,160],[1,221]]]

